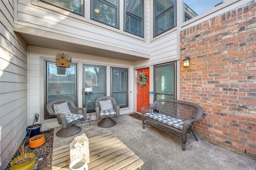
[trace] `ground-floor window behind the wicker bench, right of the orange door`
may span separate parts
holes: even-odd
[[[176,99],[176,63],[154,66],[155,100]]]

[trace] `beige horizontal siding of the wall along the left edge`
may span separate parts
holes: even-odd
[[[27,52],[13,31],[13,11],[12,1],[0,1],[0,169],[8,165],[6,145],[14,154],[28,126]]]

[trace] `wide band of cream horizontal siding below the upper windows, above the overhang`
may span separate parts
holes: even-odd
[[[38,6],[30,5],[26,1],[18,3],[18,10],[18,24],[20,25],[148,54],[148,43],[145,41],[47,11]],[[106,25],[106,27],[108,26]]]

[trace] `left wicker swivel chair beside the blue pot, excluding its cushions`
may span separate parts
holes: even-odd
[[[82,118],[71,121],[67,123],[66,121],[66,115],[62,113],[55,113],[54,111],[54,105],[55,104],[62,104],[67,102],[68,108],[70,109],[71,114],[77,114],[77,115],[83,115]],[[58,123],[62,125],[62,129],[60,129],[56,135],[58,137],[69,137],[76,135],[81,131],[81,128],[76,126],[75,123],[86,121],[86,108],[85,107],[76,107],[74,102],[69,99],[58,99],[58,100],[52,100],[46,105],[46,109],[49,113],[49,115],[54,115],[58,119]]]

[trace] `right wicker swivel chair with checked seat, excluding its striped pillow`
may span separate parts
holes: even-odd
[[[111,100],[111,104],[113,109],[109,110],[103,110],[100,106],[100,102],[106,102],[107,100]],[[100,98],[97,98],[95,101],[95,111],[96,111],[96,118],[102,119],[98,123],[99,127],[112,127],[116,125],[116,122],[111,119],[111,117],[119,117],[119,109],[120,106],[117,106],[116,100],[110,96],[103,96]]]

